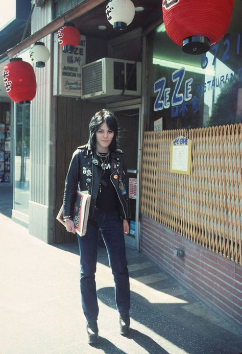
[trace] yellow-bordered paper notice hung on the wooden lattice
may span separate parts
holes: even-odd
[[[191,140],[187,137],[179,136],[171,142],[170,172],[191,173]]]

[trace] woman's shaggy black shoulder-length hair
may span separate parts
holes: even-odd
[[[113,152],[117,148],[118,142],[118,124],[117,119],[111,111],[107,109],[102,109],[99,112],[96,112],[90,123],[89,123],[89,140],[88,140],[88,148],[94,152],[96,145],[96,131],[100,128],[102,124],[106,123],[108,128],[114,132],[114,136],[112,139],[112,143],[109,145],[109,151]]]

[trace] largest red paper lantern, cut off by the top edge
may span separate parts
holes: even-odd
[[[163,0],[167,35],[188,54],[202,54],[227,32],[233,0]]]

